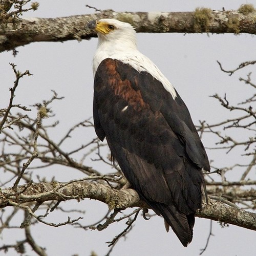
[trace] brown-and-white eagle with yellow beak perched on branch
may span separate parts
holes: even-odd
[[[140,198],[187,246],[203,198],[209,161],[185,103],[116,19],[92,20],[95,132]],[[168,230],[166,228],[166,230]]]

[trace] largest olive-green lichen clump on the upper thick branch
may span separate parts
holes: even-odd
[[[209,32],[210,20],[212,19],[211,9],[196,8],[194,13],[194,30],[197,33]]]

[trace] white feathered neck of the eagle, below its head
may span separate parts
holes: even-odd
[[[138,72],[148,72],[163,84],[163,87],[169,92],[173,99],[176,98],[176,91],[162,74],[157,66],[145,55],[139,52],[136,46],[136,33],[122,34],[121,37],[107,38],[107,36],[99,34],[99,41],[96,53],[93,58],[93,73],[95,75],[101,61],[106,58],[120,60],[132,66]]]

